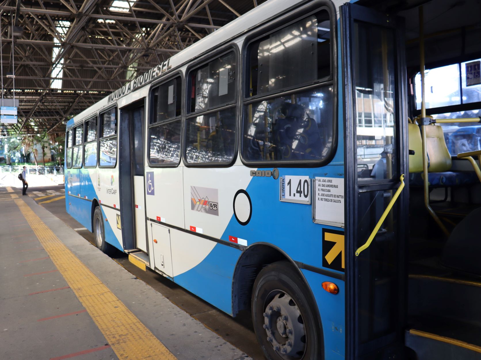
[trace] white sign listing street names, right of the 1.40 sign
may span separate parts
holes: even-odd
[[[317,178],[314,185],[314,222],[344,227],[344,179]]]

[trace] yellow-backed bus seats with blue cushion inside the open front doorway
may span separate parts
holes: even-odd
[[[416,156],[416,150],[414,156],[409,156],[409,184],[411,186],[423,186],[421,131],[415,123],[408,124],[408,130],[409,149],[420,149],[420,159],[418,157],[413,159]],[[442,126],[426,125],[426,148],[428,151],[428,181],[430,186],[445,187],[479,182],[474,171],[450,171],[453,163],[444,141]],[[412,167],[411,162],[413,162]]]

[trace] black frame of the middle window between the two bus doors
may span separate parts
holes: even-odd
[[[213,108],[207,108],[203,110],[198,110],[198,111],[193,111],[193,112],[188,112],[190,109],[190,88],[191,88],[191,83],[190,83],[190,72],[200,68],[201,66],[209,63],[212,60],[215,60],[219,58],[220,56],[226,55],[230,51],[234,51],[234,55],[236,57],[236,79],[235,79],[235,94],[234,94],[234,99],[235,101],[233,103],[225,103],[225,104],[220,104],[216,107]],[[181,152],[182,152],[182,162],[183,164],[188,167],[188,168],[228,168],[232,166],[236,160],[237,156],[239,153],[239,117],[241,115],[241,104],[240,104],[240,78],[242,76],[242,71],[241,71],[241,57],[240,57],[240,49],[238,48],[237,44],[235,43],[228,43],[225,46],[219,48],[216,51],[211,51],[207,55],[204,55],[201,59],[198,61],[193,61],[189,64],[189,66],[186,69],[186,76],[185,76],[185,84],[184,84],[184,98],[185,98],[185,105],[184,105],[184,116],[183,116],[183,122],[182,122],[182,140],[181,140]],[[234,154],[232,156],[232,159],[228,162],[216,162],[216,161],[210,161],[210,162],[205,162],[205,163],[190,163],[187,161],[187,121],[196,118],[199,116],[203,115],[208,115],[217,111],[222,111],[228,108],[235,108],[235,144],[234,144]]]

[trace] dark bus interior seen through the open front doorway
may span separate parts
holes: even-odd
[[[428,135],[434,139],[428,138],[426,143],[429,204],[449,235],[426,209],[422,157],[418,158],[420,169],[413,171],[415,156],[409,156],[408,321],[410,328],[481,346],[481,312],[475,300],[481,297],[481,182],[472,164],[457,157],[458,153],[481,150],[481,1],[358,3],[405,20],[409,118],[414,120],[421,114],[422,6],[426,116],[438,120],[472,119],[426,126],[441,126],[443,130],[437,132],[437,138]],[[477,66],[476,78],[471,82],[466,75],[470,64]],[[411,130],[409,149],[415,143]],[[420,136],[417,139],[421,141]],[[422,155],[421,149],[422,143],[417,150]],[[481,161],[478,154],[473,157]],[[438,166],[438,162],[442,164]]]

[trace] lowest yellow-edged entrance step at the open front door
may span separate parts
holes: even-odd
[[[481,347],[449,336],[422,330],[405,332],[405,343],[417,360],[480,360]]]

